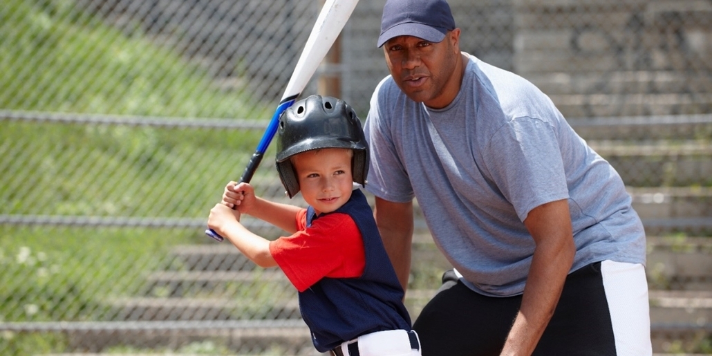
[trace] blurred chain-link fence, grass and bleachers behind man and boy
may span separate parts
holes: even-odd
[[[712,0],[449,2],[461,49],[538,85],[622,175],[654,352],[711,355]],[[204,229],[322,4],[0,0],[0,355],[320,355],[281,272]],[[365,120],[383,4],[360,1],[303,96]],[[252,183],[288,201],[273,155]],[[416,214],[413,318],[449,267]]]

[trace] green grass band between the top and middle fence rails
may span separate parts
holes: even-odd
[[[0,214],[206,216],[257,142],[255,132],[0,121]]]

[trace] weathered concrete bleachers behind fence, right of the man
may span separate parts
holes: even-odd
[[[513,6],[515,71],[613,164],[644,222],[654,352],[699,350],[712,339],[712,3]]]

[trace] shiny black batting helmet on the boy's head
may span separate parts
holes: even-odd
[[[366,184],[368,144],[356,112],[343,100],[311,95],[294,103],[279,118],[277,172],[290,198],[299,192],[299,182],[289,157],[320,148],[353,150],[353,180]]]

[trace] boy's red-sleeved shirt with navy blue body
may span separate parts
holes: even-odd
[[[411,330],[403,288],[364,194],[353,191],[332,213],[316,216],[309,207],[298,216],[304,231],[271,242],[270,251],[299,290],[316,349],[327,352],[378,331]]]

